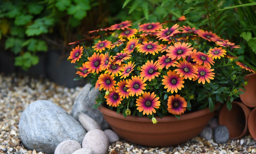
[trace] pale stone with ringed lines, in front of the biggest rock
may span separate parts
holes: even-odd
[[[65,140],[56,147],[54,154],[72,154],[74,151],[81,149],[81,145],[74,140]]]

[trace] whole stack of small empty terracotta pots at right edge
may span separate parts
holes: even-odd
[[[240,95],[242,102],[233,101],[228,111],[223,106],[219,115],[219,124],[225,125],[230,132],[230,139],[241,138],[248,133],[256,140],[256,74],[245,76],[248,84],[245,94]]]

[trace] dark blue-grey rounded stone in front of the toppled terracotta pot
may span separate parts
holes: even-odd
[[[218,125],[213,131],[213,138],[216,143],[226,143],[229,139],[229,131],[226,126]]]

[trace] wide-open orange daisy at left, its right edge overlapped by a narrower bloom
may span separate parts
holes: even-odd
[[[102,55],[103,55],[102,53],[96,54],[94,52],[91,57],[88,57],[89,61],[85,62],[85,65],[88,68],[88,71],[92,71],[92,73],[96,72],[97,74],[102,71],[100,69],[100,62],[101,62]]]

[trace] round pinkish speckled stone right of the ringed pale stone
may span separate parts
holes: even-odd
[[[89,148],[93,153],[105,154],[109,147],[109,138],[104,131],[93,129],[86,133],[82,148]]]

